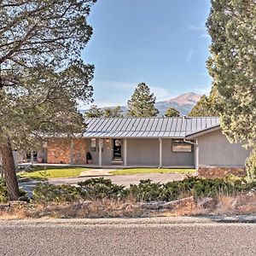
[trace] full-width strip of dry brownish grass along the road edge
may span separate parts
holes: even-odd
[[[200,201],[187,201],[172,209],[148,210],[130,197],[125,201],[76,201],[49,205],[15,205],[2,207],[0,219],[20,218],[119,218],[155,216],[195,216],[207,214],[256,213],[256,193],[218,195],[211,203],[202,206]]]

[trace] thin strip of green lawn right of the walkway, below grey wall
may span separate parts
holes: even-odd
[[[111,171],[113,175],[121,174],[138,174],[138,173],[165,173],[165,172],[178,172],[183,174],[195,173],[195,169],[159,169],[159,168],[131,168],[124,170]]]

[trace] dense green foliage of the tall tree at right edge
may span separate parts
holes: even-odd
[[[218,113],[232,142],[256,143],[256,3],[212,0],[207,20],[212,37],[207,62],[218,90]]]

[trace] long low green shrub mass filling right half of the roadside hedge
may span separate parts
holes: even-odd
[[[256,189],[255,183],[247,183],[245,179],[234,179],[234,182],[217,179],[188,177],[181,181],[165,184],[143,180],[138,185],[131,185],[129,192],[137,201],[173,201],[187,196],[195,199],[218,194],[232,195],[242,191]]]

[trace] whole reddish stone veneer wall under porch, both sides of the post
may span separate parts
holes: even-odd
[[[55,138],[47,143],[47,163],[71,164],[71,140]],[[86,164],[86,139],[73,139],[73,164]]]

